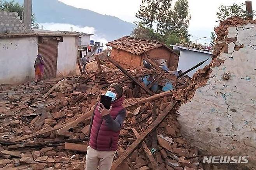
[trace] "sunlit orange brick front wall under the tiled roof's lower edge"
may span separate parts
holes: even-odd
[[[112,48],[111,58],[119,62],[120,65],[124,68],[132,68],[140,66],[140,64],[142,64],[141,56],[134,55],[130,52],[118,50],[115,48]]]

